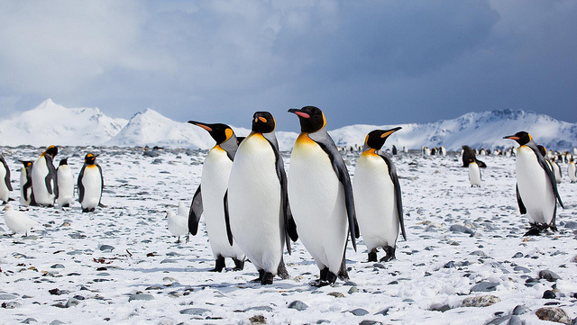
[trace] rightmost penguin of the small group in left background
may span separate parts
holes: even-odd
[[[105,186],[102,168],[96,163],[96,155],[88,153],[84,158],[84,166],[78,174],[78,202],[82,212],[93,212],[101,205],[102,190]]]

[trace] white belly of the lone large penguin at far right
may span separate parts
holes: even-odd
[[[519,194],[527,208],[529,220],[551,222],[555,208],[553,186],[535,153],[527,146],[517,149],[516,173]]]

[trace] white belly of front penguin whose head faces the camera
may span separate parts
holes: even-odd
[[[231,230],[257,269],[277,274],[284,248],[274,151],[260,134],[241,142],[228,182]]]

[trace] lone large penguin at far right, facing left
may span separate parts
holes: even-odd
[[[526,131],[503,139],[515,140],[517,149],[517,203],[521,214],[527,214],[531,229],[526,236],[538,235],[540,231],[555,226],[557,202],[563,207],[553,171],[547,166],[533,138]]]

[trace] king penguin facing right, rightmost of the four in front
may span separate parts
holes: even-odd
[[[369,262],[377,261],[377,248],[386,253],[381,262],[395,258],[399,228],[407,240],[397,169],[380,150],[387,138],[400,129],[371,131],[354,169],[354,204]]]

